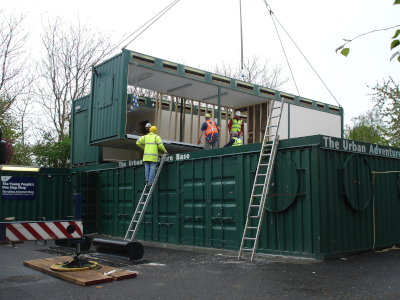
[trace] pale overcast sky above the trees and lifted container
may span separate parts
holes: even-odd
[[[33,51],[41,31],[41,19],[62,17],[104,32],[115,42],[128,36],[172,0],[131,1],[2,1],[8,12],[26,13]],[[5,2],[5,3],[4,3]],[[345,123],[373,107],[371,90],[392,76],[400,80],[400,63],[390,62],[391,37],[396,29],[356,39],[346,58],[335,49],[362,33],[400,25],[400,5],[394,0],[268,0],[276,18],[344,108]],[[239,0],[180,0],[127,49],[172,62],[209,70],[224,61],[240,63]],[[272,18],[263,0],[242,0],[244,56],[259,55],[273,64],[287,62]],[[314,71],[277,24],[300,95],[337,105]],[[399,27],[400,28],[400,27]],[[397,28],[397,29],[399,29]],[[288,92],[297,95],[292,84]],[[245,105],[245,104],[244,104]]]

